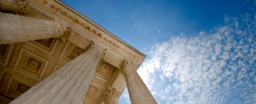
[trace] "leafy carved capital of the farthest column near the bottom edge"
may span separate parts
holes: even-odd
[[[108,99],[118,100],[122,92],[116,91],[116,88],[111,88],[110,86],[107,86],[107,91],[104,93],[104,100],[105,102]]]

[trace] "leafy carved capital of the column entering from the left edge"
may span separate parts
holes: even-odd
[[[56,36],[54,38],[57,38],[58,40],[62,41],[64,44],[66,44],[67,38],[69,38],[71,36],[70,31],[72,30],[72,28],[66,26],[65,23],[63,23],[62,21],[60,21],[56,17],[54,17],[52,19],[57,24],[57,26],[59,27],[59,33],[60,33],[58,36]]]

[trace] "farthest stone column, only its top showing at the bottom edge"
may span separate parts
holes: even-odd
[[[107,87],[107,91],[104,94],[105,104],[118,104],[118,98],[122,92],[116,91],[116,88]]]

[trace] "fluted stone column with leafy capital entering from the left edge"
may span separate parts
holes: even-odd
[[[59,38],[66,42],[71,28],[54,18],[54,21],[28,18],[0,12],[0,44]]]

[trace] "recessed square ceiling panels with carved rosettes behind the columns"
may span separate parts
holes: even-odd
[[[86,50],[87,48],[83,49],[69,41],[63,44],[53,38],[2,44],[1,97],[15,99]],[[85,97],[85,102],[97,103],[102,100],[106,86],[112,85],[118,74],[119,69],[102,60]]]

